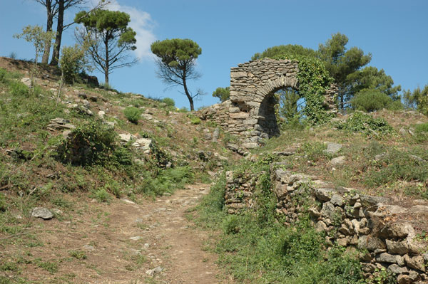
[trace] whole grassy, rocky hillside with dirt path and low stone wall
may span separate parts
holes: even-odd
[[[424,115],[339,115],[244,150],[218,105],[58,98],[55,70],[30,90],[28,63],[0,68],[0,283],[427,283]]]

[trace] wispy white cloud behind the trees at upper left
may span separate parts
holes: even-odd
[[[95,6],[98,0],[91,0]],[[152,59],[154,58],[150,46],[153,41],[156,41],[156,36],[153,33],[154,21],[151,19],[150,14],[145,11],[138,10],[132,6],[121,5],[117,0],[110,0],[110,4],[105,9],[111,11],[123,11],[131,16],[131,23],[129,26],[136,31],[136,46],[137,49],[133,51],[139,59]]]

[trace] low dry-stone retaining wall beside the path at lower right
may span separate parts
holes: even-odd
[[[226,173],[225,204],[229,214],[254,206],[253,191],[259,174]],[[410,209],[388,205],[389,199],[358,194],[354,189],[332,189],[316,177],[293,174],[271,165],[272,190],[277,212],[294,223],[310,214],[317,231],[325,231],[332,246],[360,248],[360,263],[367,278],[386,268],[397,275],[397,283],[428,283],[427,242],[417,238],[414,226],[402,214],[428,216],[428,206]],[[414,216],[412,215],[412,216]],[[285,225],[287,225],[285,223]]]

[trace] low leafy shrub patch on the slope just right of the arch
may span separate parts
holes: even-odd
[[[355,112],[345,122],[337,123],[335,127],[342,130],[360,132],[379,139],[394,133],[394,129],[386,120],[381,117],[373,118],[363,112]]]

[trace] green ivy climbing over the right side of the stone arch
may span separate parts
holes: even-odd
[[[275,56],[273,59],[288,59],[298,63],[299,93],[306,100],[303,111],[307,120],[315,125],[329,121],[333,115],[326,110],[324,98],[325,92],[330,88],[333,79],[325,69],[324,64],[317,58],[305,56],[281,55]]]

